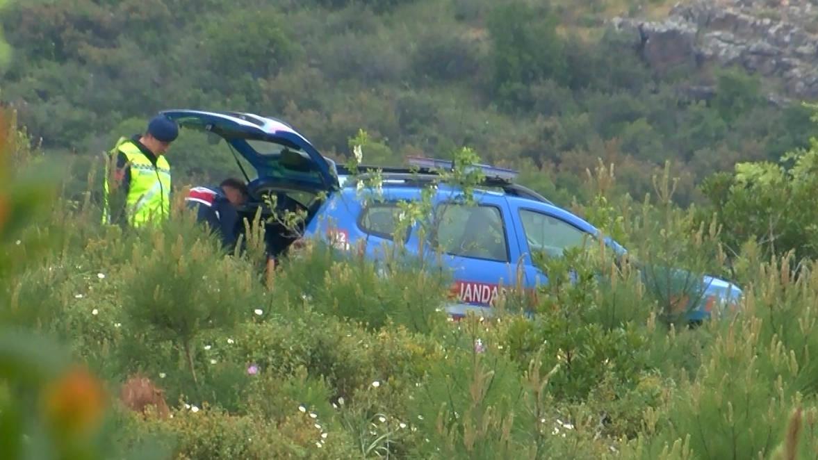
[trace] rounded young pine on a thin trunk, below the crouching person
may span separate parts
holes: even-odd
[[[212,235],[180,213],[133,246],[121,291],[130,336],[181,350],[193,377],[194,340],[201,331],[229,329],[259,304],[254,268],[222,254]]]

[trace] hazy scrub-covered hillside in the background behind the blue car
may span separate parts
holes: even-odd
[[[806,147],[799,104],[772,106],[742,70],[680,68],[658,78],[605,18],[658,17],[669,2],[488,0],[70,0],[13,2],[2,25],[15,59],[0,99],[55,159],[88,162],[156,110],[272,115],[326,155],[348,156],[357,129],[371,161],[447,156],[524,169],[567,204],[597,158],[644,196],[671,161],[676,200],[739,160]],[[708,101],[690,91],[712,83]],[[70,153],[69,153],[70,152]],[[180,142],[176,177],[218,180],[225,151]],[[70,155],[67,156],[66,155]],[[61,160],[59,160],[61,161]],[[74,184],[74,189],[78,187]]]

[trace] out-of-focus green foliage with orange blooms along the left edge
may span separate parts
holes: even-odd
[[[40,263],[54,259],[61,234],[70,232],[57,226],[38,232],[55,202],[54,173],[30,150],[14,114],[0,112],[0,452],[3,458],[111,458],[125,452],[110,442],[105,382],[44,330],[40,318],[47,321],[50,313],[40,301],[20,297],[29,270],[52,272]],[[133,458],[159,452],[129,454],[137,453]]]

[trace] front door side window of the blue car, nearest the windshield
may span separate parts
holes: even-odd
[[[542,251],[551,257],[561,257],[563,250],[585,244],[587,232],[548,214],[533,210],[519,210],[528,249]]]

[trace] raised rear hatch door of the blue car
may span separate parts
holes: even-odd
[[[164,110],[180,127],[217,135],[256,169],[264,183],[281,183],[313,191],[337,188],[335,162],[322,156],[289,125],[240,112]]]

